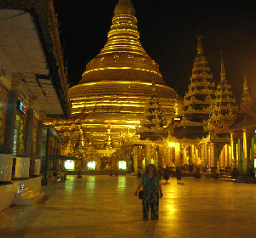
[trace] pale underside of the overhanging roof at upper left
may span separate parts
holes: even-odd
[[[48,26],[38,15],[24,10],[0,10],[0,45],[12,71],[23,77],[47,115],[67,113]]]

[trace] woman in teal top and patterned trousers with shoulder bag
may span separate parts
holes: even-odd
[[[160,185],[161,176],[157,173],[154,164],[149,164],[141,178],[142,181],[138,184],[134,195],[137,196],[137,191],[143,186],[143,190],[145,191],[145,196],[143,198],[143,219],[148,219],[149,207],[151,209],[151,219],[158,219],[159,198],[163,196]],[[150,179],[151,181],[148,183]]]

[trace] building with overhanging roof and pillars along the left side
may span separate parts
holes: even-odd
[[[70,105],[53,1],[0,1],[0,14],[2,211],[38,199],[42,178],[54,180],[61,139],[44,115],[67,116]]]

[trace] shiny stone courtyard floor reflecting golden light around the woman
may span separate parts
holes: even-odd
[[[143,220],[132,176],[67,176],[44,201],[0,212],[0,237],[256,237],[256,185],[214,178],[162,181],[160,219]]]

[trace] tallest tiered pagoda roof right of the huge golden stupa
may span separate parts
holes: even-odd
[[[189,92],[185,94],[182,113],[177,115],[181,117],[181,122],[175,123],[174,135],[180,139],[207,136],[204,124],[212,114],[211,105],[215,98],[215,82],[203,54],[201,38],[201,36],[197,37],[197,55],[190,77]]]

